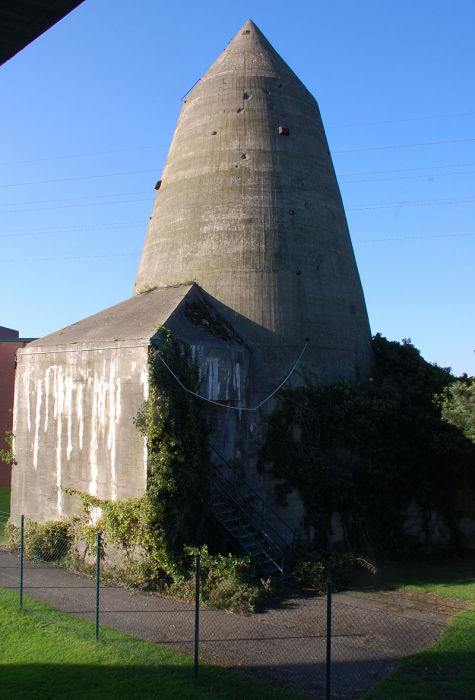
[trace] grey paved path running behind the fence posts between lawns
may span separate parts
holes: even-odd
[[[0,587],[18,590],[18,557],[0,551]],[[93,620],[95,583],[47,564],[24,564],[24,594]],[[432,643],[467,607],[420,594],[333,597],[333,689],[358,697],[397,661]],[[100,623],[140,639],[193,653],[194,607],[155,594],[101,586]],[[325,683],[326,599],[295,597],[240,616],[202,607],[200,656],[283,687],[321,696]]]

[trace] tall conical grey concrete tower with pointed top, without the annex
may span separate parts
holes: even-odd
[[[249,20],[186,98],[135,291],[197,282],[254,353],[253,398],[310,339],[326,381],[364,373],[370,330],[317,103]]]

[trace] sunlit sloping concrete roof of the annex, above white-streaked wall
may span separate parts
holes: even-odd
[[[23,352],[34,353],[38,347],[61,345],[124,342],[147,342],[156,326],[163,325],[187,296],[193,285],[153,289],[138,294],[98,314],[66,326],[31,343]]]

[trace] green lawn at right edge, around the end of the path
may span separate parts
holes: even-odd
[[[475,557],[383,564],[387,588],[406,588],[472,602],[455,615],[440,639],[403,659],[365,700],[469,700],[475,698]]]

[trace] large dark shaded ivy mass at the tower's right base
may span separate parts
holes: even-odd
[[[475,488],[475,450],[433,399],[455,377],[407,341],[377,335],[373,350],[367,380],[283,392],[259,469],[277,480],[282,504],[298,491],[317,549],[329,548],[334,513],[347,547],[401,548],[414,502],[440,513],[457,542],[457,492]]]

